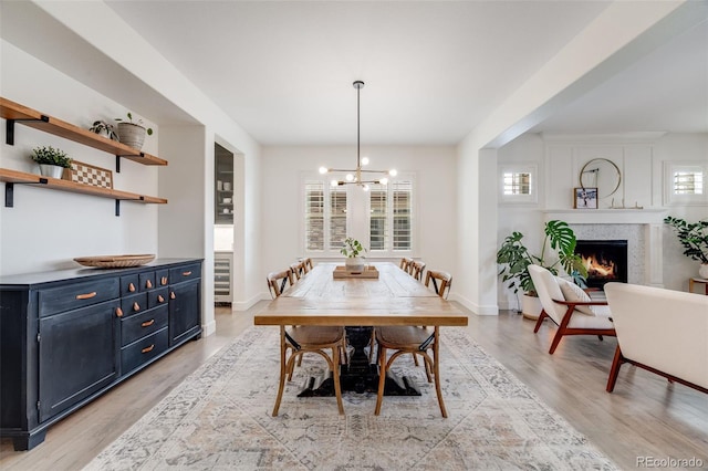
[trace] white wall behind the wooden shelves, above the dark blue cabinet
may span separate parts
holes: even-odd
[[[93,119],[124,116],[125,107],[77,83],[4,41],[1,43],[0,94],[42,113],[88,127]],[[157,135],[154,123],[146,123]],[[15,145],[0,130],[0,167],[35,171],[29,155],[35,146],[53,146],[72,158],[113,171],[116,189],[149,196],[158,191],[158,168],[122,160],[67,139],[15,125]],[[144,150],[159,156],[155,135]],[[4,197],[4,184],[0,185]],[[79,268],[75,257],[157,253],[157,206],[124,201],[121,217],[112,199],[15,185],[14,208],[0,206],[0,274]]]

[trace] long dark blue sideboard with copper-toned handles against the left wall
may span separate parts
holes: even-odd
[[[15,450],[201,335],[201,260],[0,276],[0,435]]]

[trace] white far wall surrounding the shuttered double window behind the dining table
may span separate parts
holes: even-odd
[[[424,260],[428,268],[446,270],[455,275],[455,148],[369,146],[362,149],[364,155],[371,159],[369,168],[396,168],[399,174],[415,172],[414,218],[418,223],[413,257]],[[356,148],[264,147],[262,156],[264,276],[267,272],[283,269],[303,255],[300,238],[303,227],[302,176],[319,176],[321,166],[354,168]],[[373,259],[374,255],[368,257]]]

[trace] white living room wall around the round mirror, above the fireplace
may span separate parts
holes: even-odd
[[[538,167],[539,198],[537,203],[499,203],[498,243],[512,231],[524,234],[523,242],[532,253],[540,252],[543,240],[543,209],[571,209],[572,189],[577,187],[579,169],[591,158],[603,157],[622,170],[622,184],[616,195],[600,200],[600,208],[614,205],[645,209],[665,209],[668,214],[689,221],[708,218],[708,206],[665,206],[662,198],[665,181],[664,163],[708,161],[707,134],[644,134],[604,136],[546,136],[525,134],[499,149],[498,165]],[[500,180],[498,178],[498,186]],[[592,210],[579,210],[592,211]],[[637,210],[638,211],[638,210]],[[698,263],[683,255],[677,238],[668,227],[663,233],[663,280],[665,287],[687,290],[688,278],[696,276]],[[499,283],[499,305],[516,308],[517,300]]]

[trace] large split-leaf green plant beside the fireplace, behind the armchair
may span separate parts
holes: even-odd
[[[564,221],[549,221],[543,230],[545,237],[541,254],[535,255],[521,241],[521,232],[512,232],[502,242],[497,252],[497,263],[503,265],[499,275],[502,282],[509,282],[509,289],[514,293],[519,290],[527,294],[535,295],[535,287],[531,274],[527,270],[529,265],[537,264],[548,269],[551,273],[558,274],[558,268],[562,266],[565,273],[571,275],[573,282],[585,287],[587,269],[583,261],[575,253],[577,242],[575,233]]]

